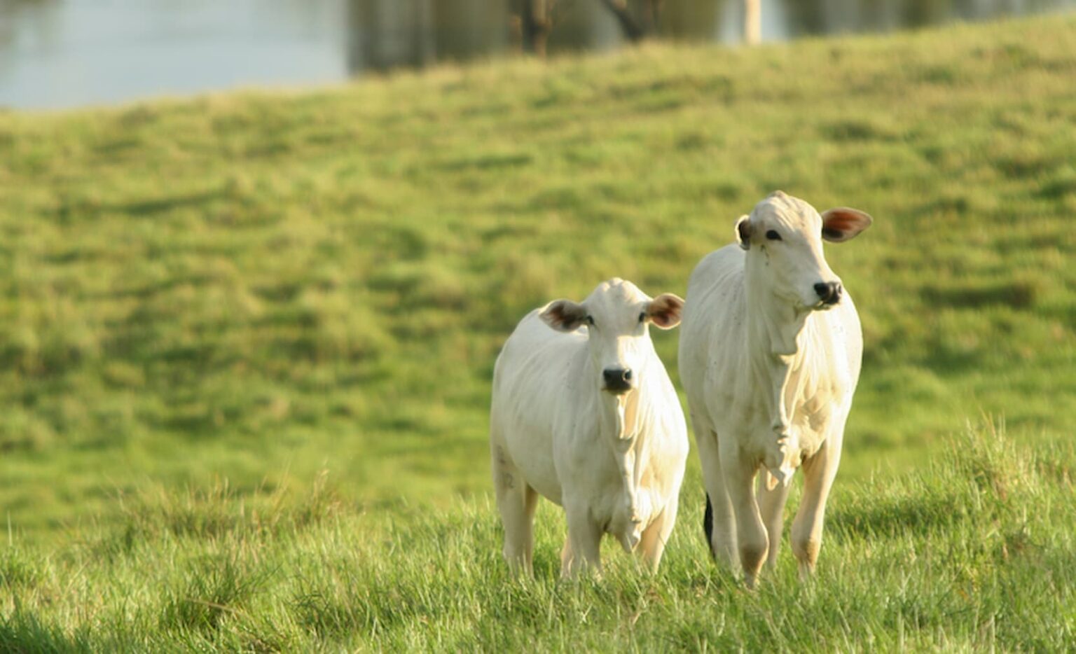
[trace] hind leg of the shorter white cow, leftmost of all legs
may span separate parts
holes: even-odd
[[[534,516],[538,493],[523,481],[523,475],[508,457],[504,446],[494,444],[493,485],[497,509],[505,528],[505,560],[512,572],[534,573]]]

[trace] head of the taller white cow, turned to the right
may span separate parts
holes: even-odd
[[[736,223],[736,240],[748,251],[749,284],[768,288],[797,309],[830,309],[840,302],[840,279],[830,269],[822,241],[840,243],[870,226],[869,215],[838,207],[823,214],[780,190]]]

